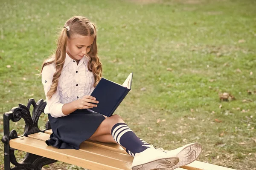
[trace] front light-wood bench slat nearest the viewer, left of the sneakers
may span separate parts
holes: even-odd
[[[131,170],[131,163],[100,156],[81,150],[58,149],[47,146],[44,141],[20,137],[10,140],[10,147],[39,156],[74,164],[92,170]]]

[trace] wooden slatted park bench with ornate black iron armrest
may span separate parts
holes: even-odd
[[[33,105],[32,116],[29,109]],[[84,141],[79,150],[58,149],[47,146],[45,141],[52,133],[49,121],[46,128],[38,128],[38,119],[44,111],[46,102],[41,99],[35,103],[29,99],[27,106],[19,104],[4,113],[4,168],[10,170],[10,163],[15,165],[15,170],[41,170],[44,165],[62,161],[91,170],[131,170],[133,157],[123,150],[118,144]],[[25,121],[23,135],[17,136],[15,130],[9,131],[9,121],[17,122],[21,118]],[[17,162],[14,151],[22,150],[26,156],[21,162]],[[175,170],[232,170],[213,164],[194,161],[191,164]]]

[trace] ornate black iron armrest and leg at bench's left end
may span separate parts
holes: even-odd
[[[29,112],[30,106],[33,105],[32,116]],[[10,147],[9,141],[17,138],[17,132],[12,130],[10,133],[10,120],[13,122],[20,121],[21,118],[25,121],[24,133],[21,136],[27,136],[32,133],[42,132],[51,129],[49,121],[46,124],[46,129],[38,128],[38,119],[44,111],[46,102],[41,99],[35,103],[34,99],[29,99],[27,106],[19,104],[19,107],[13,107],[9,112],[3,115],[3,131],[4,135],[1,141],[4,143],[4,170],[41,170],[44,165],[56,162],[54,159],[38,156],[32,153],[26,153],[25,158],[21,162],[17,162],[14,151],[15,148]],[[21,137],[19,136],[19,137]],[[11,163],[15,167],[11,168]]]

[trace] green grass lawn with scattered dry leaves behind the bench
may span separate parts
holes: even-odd
[[[255,1],[145,2],[1,0],[0,113],[26,104],[28,98],[45,98],[37,69],[54,51],[58,29],[73,15],[84,15],[97,25],[103,77],[122,83],[134,72],[132,90],[116,114],[140,138],[167,150],[200,142],[200,161],[253,170]],[[255,92],[249,95],[247,90]],[[236,100],[221,102],[220,92]],[[41,115],[41,129],[46,120]],[[21,135],[23,127],[21,121],[11,129]],[[2,137],[3,115],[0,133]],[[19,160],[23,155],[16,151]],[[44,168],[53,167],[82,169],[60,162]]]

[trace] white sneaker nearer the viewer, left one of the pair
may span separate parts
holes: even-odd
[[[136,153],[131,165],[132,170],[152,170],[173,167],[179,162],[177,156],[155,149],[153,145],[141,153]]]

